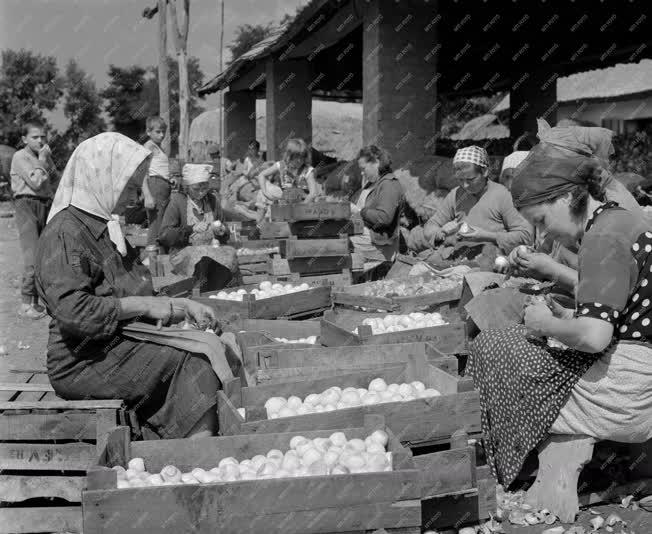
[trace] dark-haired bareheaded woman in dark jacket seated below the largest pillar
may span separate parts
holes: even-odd
[[[362,235],[351,236],[353,251],[365,261],[394,261],[399,245],[399,219],[403,188],[392,172],[392,161],[382,148],[369,145],[360,150],[358,165],[363,187],[353,204],[364,223]]]

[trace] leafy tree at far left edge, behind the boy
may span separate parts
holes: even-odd
[[[28,120],[45,121],[63,94],[56,59],[29,50],[4,50],[0,67],[0,132],[2,141],[17,146],[21,126]]]

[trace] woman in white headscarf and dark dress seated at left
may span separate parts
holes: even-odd
[[[38,244],[36,284],[50,322],[47,367],[64,399],[123,399],[161,438],[214,435],[220,382],[208,359],[123,335],[133,320],[206,328],[213,310],[152,296],[152,279],[122,235],[120,214],[151,153],[118,133],[81,143],[63,172]]]

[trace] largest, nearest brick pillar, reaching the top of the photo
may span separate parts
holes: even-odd
[[[395,166],[435,152],[441,23],[434,1],[364,4],[362,138],[387,149]]]

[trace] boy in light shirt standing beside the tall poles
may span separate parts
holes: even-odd
[[[168,156],[161,148],[161,143],[165,139],[167,124],[161,117],[147,117],[146,128],[149,139],[144,146],[152,153],[149,176],[143,181],[143,197],[149,223],[147,244],[156,245],[161,221],[163,220],[165,208],[170,201],[170,193],[174,182],[170,179]]]

